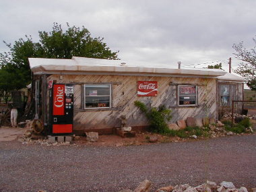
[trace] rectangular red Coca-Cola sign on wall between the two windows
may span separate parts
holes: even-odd
[[[137,96],[157,96],[158,82],[137,82]]]

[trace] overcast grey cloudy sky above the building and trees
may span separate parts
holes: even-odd
[[[0,51],[25,34],[51,31],[53,22],[85,26],[93,37],[104,37],[119,58],[129,62],[182,65],[234,59],[232,45],[252,47],[256,34],[256,1],[140,0],[0,0]],[[213,63],[216,64],[216,63]],[[207,67],[207,65],[195,65]]]

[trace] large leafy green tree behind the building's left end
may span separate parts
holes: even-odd
[[[61,25],[54,23],[51,32],[39,31],[39,42],[33,42],[31,36],[16,40],[13,45],[5,44],[10,52],[0,54],[0,79],[5,79],[7,73],[15,75],[25,87],[31,81],[31,71],[28,57],[42,57],[53,59],[71,59],[77,57],[91,57],[98,59],[118,59],[119,51],[110,51],[103,38],[92,38],[90,32],[83,26],[77,28],[69,26],[63,30]],[[3,66],[7,66],[4,68]],[[6,71],[7,70],[7,71]],[[15,81],[16,82],[16,81]],[[15,89],[20,88],[20,82]],[[1,89],[1,88],[0,88]]]

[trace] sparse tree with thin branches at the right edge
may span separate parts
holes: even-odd
[[[233,45],[236,53],[233,53],[236,59],[242,61],[238,64],[235,72],[247,80],[247,86],[251,90],[256,90],[256,39],[253,38],[255,46],[252,49],[246,49],[243,42]]]

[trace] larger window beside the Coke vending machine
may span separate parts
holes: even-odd
[[[84,108],[110,108],[110,84],[84,85]]]

